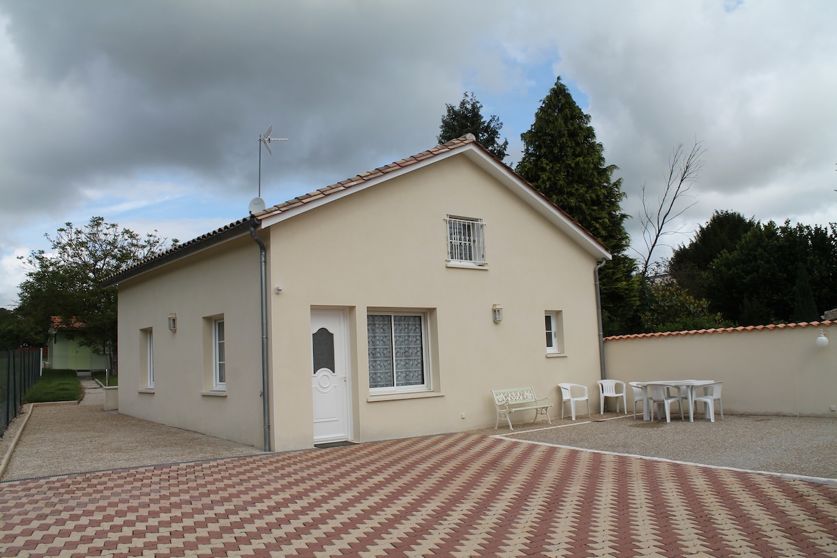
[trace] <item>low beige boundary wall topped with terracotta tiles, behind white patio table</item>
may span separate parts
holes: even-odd
[[[827,347],[816,346],[820,330]],[[608,378],[628,381],[723,381],[730,414],[837,417],[837,327],[761,330],[605,340]],[[630,403],[629,403],[630,405]]]

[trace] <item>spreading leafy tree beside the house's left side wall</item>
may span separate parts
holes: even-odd
[[[16,312],[25,316],[24,329],[39,332],[39,341],[51,325],[50,316],[63,325],[84,325],[80,343],[110,354],[116,363],[116,287],[103,288],[100,281],[133,264],[161,253],[171,244],[157,232],[144,237],[104,218],[76,227],[65,223],[54,237],[44,235],[50,252],[36,250],[25,259],[27,279],[19,286]]]

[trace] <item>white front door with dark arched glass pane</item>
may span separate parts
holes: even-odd
[[[311,310],[311,361],[314,443],[347,440],[349,359],[343,310]]]

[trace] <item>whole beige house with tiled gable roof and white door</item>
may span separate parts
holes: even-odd
[[[554,413],[595,392],[610,258],[463,136],[106,279],[120,412],[272,450],[490,426],[491,389]]]

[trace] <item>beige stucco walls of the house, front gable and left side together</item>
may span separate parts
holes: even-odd
[[[487,269],[446,265],[448,214],[486,223]],[[345,310],[357,442],[493,426],[492,388],[532,385],[560,414],[559,381],[595,393],[596,259],[465,156],[275,223],[268,244],[271,448],[313,445],[311,310]],[[275,287],[281,287],[280,293]],[[249,235],[120,284],[120,412],[260,447],[259,250]],[[491,307],[503,307],[500,324]],[[433,392],[371,397],[367,309],[427,310]],[[564,356],[546,356],[561,310]],[[177,332],[167,318],[177,313]],[[226,320],[226,397],[204,395],[205,316]],[[156,381],[144,390],[141,330]],[[462,416],[465,416],[462,418]],[[516,421],[531,421],[531,416]]]

